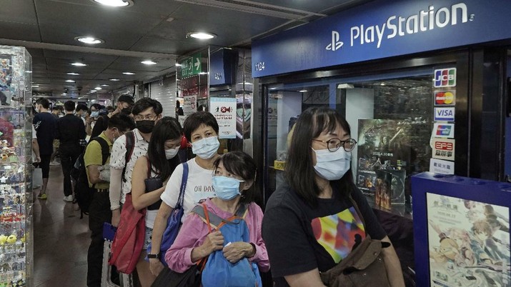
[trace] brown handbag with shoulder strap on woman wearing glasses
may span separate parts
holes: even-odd
[[[351,195],[349,200],[352,201],[365,226],[362,213]],[[390,287],[387,268],[382,257],[382,248],[389,246],[388,242],[375,240],[366,235],[366,238],[341,262],[328,271],[319,273],[321,280],[329,287]]]

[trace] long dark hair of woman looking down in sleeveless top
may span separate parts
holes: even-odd
[[[165,141],[180,139],[182,136],[181,124],[172,116],[164,116],[154,126],[147,148],[147,157],[151,163],[152,171],[158,174],[163,181],[167,180],[179,165],[179,156],[167,160],[165,157]]]

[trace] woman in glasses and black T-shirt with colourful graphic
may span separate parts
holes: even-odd
[[[390,242],[354,185],[350,163],[356,144],[337,111],[311,108],[299,116],[287,184],[269,198],[262,225],[275,286],[324,286],[319,272],[339,263],[366,233]],[[382,253],[392,286],[405,286],[392,245]]]

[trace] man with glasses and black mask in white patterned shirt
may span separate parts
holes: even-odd
[[[110,204],[113,226],[119,225],[121,204],[124,203],[126,194],[132,192],[133,168],[137,159],[147,153],[154,124],[162,118],[162,111],[162,104],[159,101],[150,98],[139,99],[132,110],[137,128],[121,136],[114,143],[110,158]],[[126,148],[129,142],[132,142],[132,146]],[[129,159],[127,162],[126,158]]]

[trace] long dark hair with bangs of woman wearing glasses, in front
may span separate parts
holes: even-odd
[[[351,134],[348,122],[337,111],[327,107],[313,107],[303,111],[294,126],[284,175],[289,186],[311,206],[317,205],[317,196],[320,193],[314,180],[316,171],[312,164],[312,139],[317,138],[323,131],[333,132],[338,125]],[[351,193],[354,189],[351,168],[342,178],[332,181],[331,184],[339,195]]]

